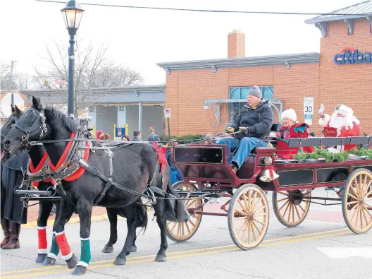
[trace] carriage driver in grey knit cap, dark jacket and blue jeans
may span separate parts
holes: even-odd
[[[249,156],[252,149],[259,146],[267,146],[267,143],[261,140],[270,134],[270,129],[273,125],[273,109],[271,109],[268,101],[262,98],[262,93],[258,86],[254,85],[249,90],[247,102],[248,104],[244,105],[231,126],[226,129],[229,133],[241,131],[242,138],[240,141],[233,137],[221,138],[219,141],[220,144],[226,144],[230,150],[234,150],[239,146],[233,160],[231,153],[228,152],[229,163],[235,173],[242,167],[244,160]]]

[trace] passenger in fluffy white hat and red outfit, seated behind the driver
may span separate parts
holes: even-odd
[[[271,132],[270,136],[278,138],[276,143],[276,154],[283,159],[293,159],[299,151],[312,153],[313,147],[288,148],[287,142],[290,138],[308,138],[309,125],[299,124],[294,109],[287,109],[282,113],[283,126],[279,131]]]

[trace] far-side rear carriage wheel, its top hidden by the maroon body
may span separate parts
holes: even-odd
[[[276,218],[286,227],[298,226],[309,213],[310,197],[311,189],[273,191],[273,210]]]

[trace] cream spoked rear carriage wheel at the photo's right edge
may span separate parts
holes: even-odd
[[[372,227],[372,172],[357,169],[345,182],[342,214],[347,227],[360,235]]]

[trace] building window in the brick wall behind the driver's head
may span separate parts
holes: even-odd
[[[252,86],[230,88],[229,99],[237,101],[230,102],[230,122],[240,114],[244,105],[247,105],[247,95],[251,88]],[[274,98],[273,86],[259,86],[259,88],[264,99],[272,100]]]

